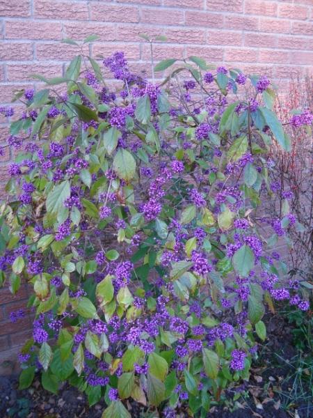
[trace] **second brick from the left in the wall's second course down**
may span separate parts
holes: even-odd
[[[90,35],[99,36],[99,40],[115,40],[115,26],[93,22],[71,22],[64,24],[67,38],[82,40]]]

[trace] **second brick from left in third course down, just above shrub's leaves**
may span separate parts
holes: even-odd
[[[88,45],[83,47],[85,54],[88,54]],[[65,61],[73,59],[74,56],[81,54],[81,49],[75,45],[61,42],[57,43],[36,43],[35,56],[40,61]]]

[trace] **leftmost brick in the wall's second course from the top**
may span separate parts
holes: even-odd
[[[6,22],[7,39],[35,39],[59,40],[62,39],[62,25],[58,22]]]

